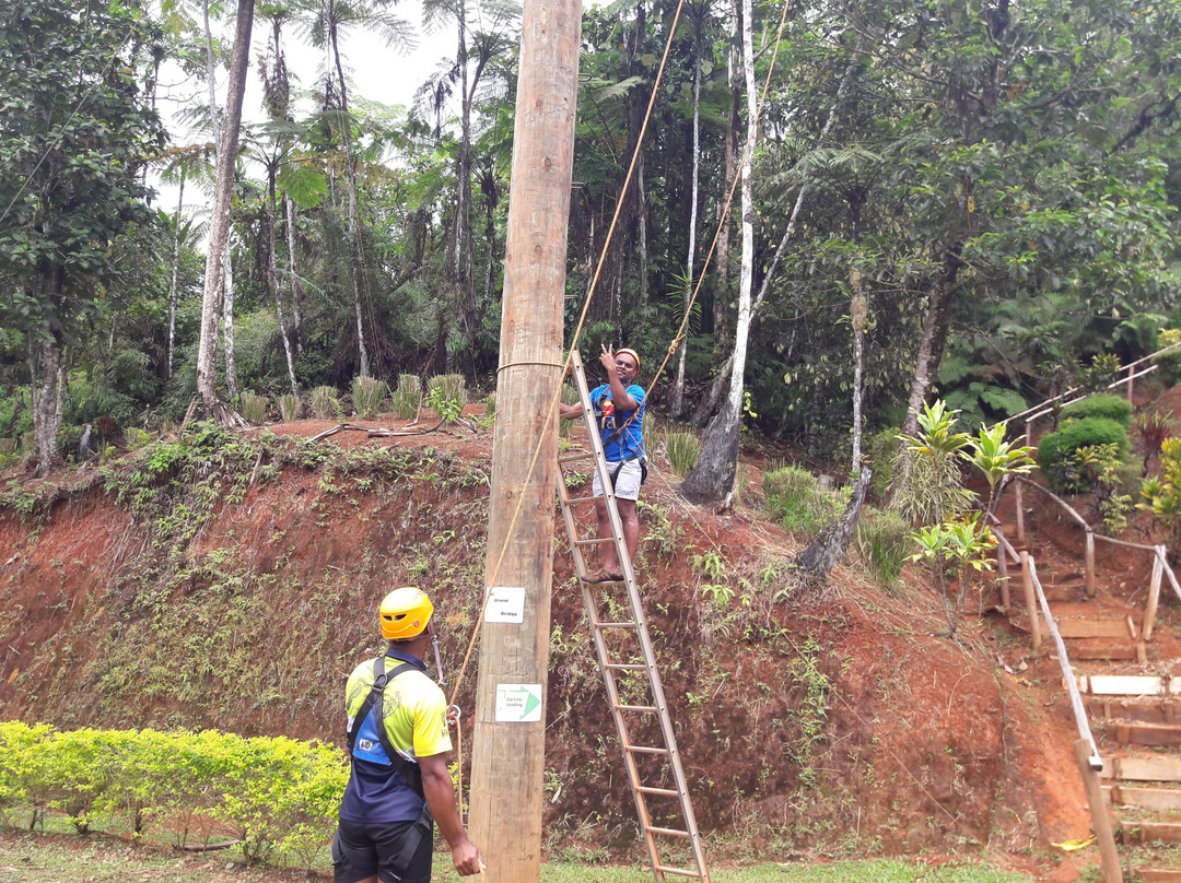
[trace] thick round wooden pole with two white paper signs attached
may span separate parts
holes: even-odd
[[[555,392],[581,38],[581,0],[526,0],[484,570],[494,602],[481,637],[471,760],[470,831],[488,865],[483,883],[541,877]]]

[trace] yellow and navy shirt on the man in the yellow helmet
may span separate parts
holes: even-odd
[[[385,685],[383,714],[386,735],[393,747],[410,763],[417,763],[419,757],[450,751],[446,700],[443,691],[426,675],[426,666],[409,653],[391,649],[385,655],[386,672],[393,671],[402,662],[410,662],[417,669],[404,672]],[[372,687],[373,660],[366,660],[348,679],[345,708],[350,719],[360,709]],[[423,798],[403,781],[392,766],[365,759],[385,754],[379,747],[374,752],[361,747],[365,741],[363,737],[372,728],[372,720],[371,711],[358,733],[352,774],[340,802],[340,818],[370,823],[413,822],[423,811]]]

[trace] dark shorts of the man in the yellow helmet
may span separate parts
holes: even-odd
[[[381,883],[430,883],[435,832],[415,828],[415,822],[366,824],[340,819],[332,841],[333,883],[357,883],[374,874]],[[420,841],[405,868],[399,859],[406,838],[413,833]]]

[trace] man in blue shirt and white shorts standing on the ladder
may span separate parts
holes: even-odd
[[[590,391],[590,404],[594,407],[599,434],[602,438],[602,453],[607,460],[612,488],[615,491],[615,508],[624,525],[624,541],[627,543],[627,556],[635,561],[635,549],[640,544],[640,522],[635,515],[635,502],[640,498],[640,485],[647,472],[647,460],[644,449],[644,387],[635,382],[640,373],[640,357],[634,349],[615,352],[603,346],[599,362],[607,372],[607,382]],[[579,417],[582,408],[579,405],[561,405],[559,413],[562,419]],[[594,472],[592,493],[602,496],[602,483],[599,470]],[[596,499],[595,517],[599,522],[599,536],[611,536],[611,516],[607,514],[607,501]],[[624,578],[614,543],[601,547],[601,568],[587,575],[587,582],[613,582]]]

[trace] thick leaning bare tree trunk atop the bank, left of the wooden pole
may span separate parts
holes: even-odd
[[[218,423],[224,424],[241,423],[241,418],[217,398],[215,357],[217,315],[221,312],[218,292],[222,283],[226,247],[229,243],[229,209],[234,185],[234,164],[237,158],[237,136],[242,125],[242,97],[246,93],[246,72],[250,60],[250,30],[253,25],[254,0],[239,0],[234,57],[230,64],[229,91],[226,100],[226,125],[222,127],[221,150],[217,152],[217,184],[214,192],[209,253],[205,257],[205,290],[201,303],[201,341],[197,347],[197,392],[201,394],[207,411]]]

